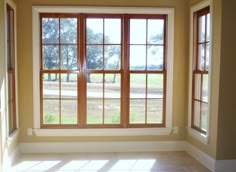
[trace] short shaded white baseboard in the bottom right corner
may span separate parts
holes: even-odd
[[[236,159],[216,160],[215,172],[236,172]]]

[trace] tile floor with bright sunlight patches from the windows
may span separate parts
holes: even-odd
[[[23,154],[11,172],[210,172],[186,152]]]

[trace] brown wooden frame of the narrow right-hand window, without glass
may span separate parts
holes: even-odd
[[[202,133],[203,135],[207,135],[207,130],[204,130],[202,127],[201,127],[201,123],[202,123],[202,104],[207,104],[208,107],[209,107],[209,103],[208,102],[205,102],[202,100],[202,84],[203,84],[203,75],[208,75],[209,76],[209,68],[206,67],[206,45],[210,44],[210,38],[209,40],[207,40],[207,34],[205,34],[205,37],[204,37],[204,41],[201,42],[199,40],[199,18],[202,17],[202,16],[207,16],[207,14],[210,14],[210,7],[207,6],[207,7],[204,7],[198,11],[196,11],[193,15],[193,39],[194,39],[194,42],[196,44],[196,46],[193,48],[193,71],[192,71],[192,99],[191,99],[191,128],[196,130],[197,132],[199,133]],[[207,20],[207,17],[206,17],[206,20],[205,20],[205,33],[207,33],[207,22],[209,22]],[[204,46],[204,67],[203,69],[201,69],[201,67],[199,66],[199,45],[203,45]],[[196,82],[196,76],[195,75],[200,75],[200,99],[197,99],[195,98],[195,82]],[[209,80],[209,79],[208,79]],[[209,85],[208,85],[208,88],[209,88]],[[200,109],[199,109],[199,112],[200,112],[200,117],[199,117],[199,126],[196,126],[195,125],[195,121],[194,121],[194,118],[195,118],[195,114],[194,114],[194,108],[195,108],[195,102],[198,102],[200,103]],[[209,115],[209,113],[208,113]],[[208,125],[208,124],[207,124]]]

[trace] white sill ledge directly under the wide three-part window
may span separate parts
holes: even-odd
[[[125,128],[125,129],[29,129],[36,136],[150,136],[169,135],[172,128]],[[28,133],[28,135],[30,135]]]

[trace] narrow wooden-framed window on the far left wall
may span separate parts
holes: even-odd
[[[17,128],[16,119],[16,62],[15,62],[15,17],[14,9],[7,4],[7,83],[8,83],[8,131]]]

